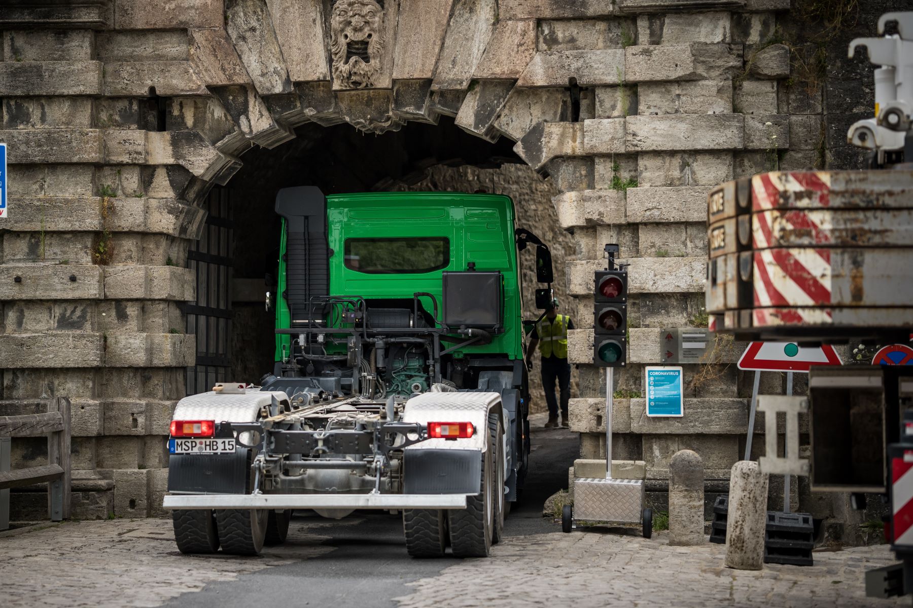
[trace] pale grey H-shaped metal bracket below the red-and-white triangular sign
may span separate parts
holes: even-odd
[[[758,411],[764,412],[765,454],[758,459],[767,475],[809,474],[808,459],[799,458],[799,414],[808,411],[807,397],[759,395]],[[785,456],[777,456],[777,414],[786,415]]]

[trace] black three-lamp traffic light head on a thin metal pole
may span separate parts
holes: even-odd
[[[627,359],[627,271],[596,271],[593,363],[624,367]]]

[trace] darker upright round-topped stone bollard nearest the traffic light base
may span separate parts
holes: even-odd
[[[682,449],[669,465],[669,544],[704,544],[704,463]]]

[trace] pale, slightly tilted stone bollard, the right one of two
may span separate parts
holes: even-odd
[[[764,528],[767,524],[767,476],[757,462],[740,460],[729,479],[726,518],[726,565],[736,570],[764,566]]]

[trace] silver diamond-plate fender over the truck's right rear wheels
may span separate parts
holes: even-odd
[[[488,449],[488,413],[505,419],[498,393],[424,393],[405,402],[404,422],[471,422],[476,433],[463,439],[427,439],[409,449]]]

